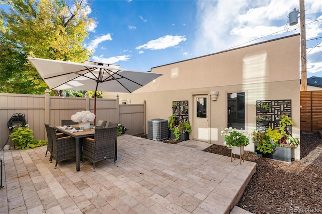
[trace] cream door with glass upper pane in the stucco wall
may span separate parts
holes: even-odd
[[[195,140],[208,142],[208,111],[207,95],[194,96],[194,127]]]

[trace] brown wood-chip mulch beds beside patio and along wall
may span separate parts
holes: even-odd
[[[213,144],[204,151],[230,157],[226,146]],[[287,163],[247,151],[244,159],[257,166],[237,206],[253,213],[322,213],[322,139],[318,134],[301,133],[301,160]]]

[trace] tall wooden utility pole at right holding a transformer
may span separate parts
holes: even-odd
[[[301,29],[301,91],[306,91],[306,32],[305,32],[305,9],[304,0],[300,0],[300,29]]]

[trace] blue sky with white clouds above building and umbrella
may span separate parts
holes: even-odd
[[[94,51],[90,59],[140,71],[293,35],[300,28],[287,24],[288,14],[299,10],[299,0],[94,0],[88,4],[89,16],[95,20],[86,39],[86,47]],[[321,0],[305,0],[305,20],[307,77],[322,77]]]

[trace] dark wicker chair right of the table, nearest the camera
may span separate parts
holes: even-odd
[[[95,128],[93,138],[84,138],[83,140],[83,165],[85,159],[93,163],[95,171],[95,163],[106,160],[115,159],[115,141],[117,138],[117,127],[111,128]]]

